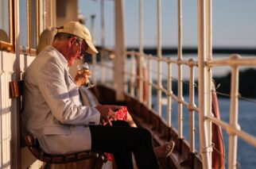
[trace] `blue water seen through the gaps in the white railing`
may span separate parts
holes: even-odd
[[[188,102],[188,96],[184,96],[186,102]],[[196,102],[198,98],[195,98]],[[154,109],[157,109],[157,97],[153,97],[153,105]],[[198,104],[196,103],[198,106]],[[219,98],[219,111],[220,117],[223,121],[229,121],[229,109],[230,109],[230,100],[227,98]],[[256,136],[256,103],[254,102],[246,102],[246,101],[239,101],[239,125],[241,129],[244,130],[246,133],[250,133],[252,136]],[[173,101],[172,105],[173,113],[172,113],[172,124],[173,127],[177,128],[177,106],[176,102]],[[162,116],[166,117],[166,106],[162,106]],[[184,129],[183,133],[185,138],[189,139],[189,118],[188,118],[188,110],[183,107],[183,116],[184,116]],[[199,129],[197,125],[198,121],[198,113],[195,113],[195,121],[196,121],[196,143],[199,142],[198,134]],[[227,168],[228,162],[228,137],[225,130],[223,130],[223,139],[225,144],[225,162]],[[196,149],[199,150],[198,144],[196,144]],[[245,169],[254,169],[256,168],[256,148],[249,144],[246,144],[243,140],[239,139],[238,142],[238,168],[245,168]]]

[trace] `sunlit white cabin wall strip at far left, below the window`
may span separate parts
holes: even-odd
[[[15,68],[17,66],[16,54],[0,52],[0,168],[14,168],[17,163],[12,163],[16,156],[15,144],[17,144],[16,115],[17,99],[10,98],[9,83],[17,78]]]

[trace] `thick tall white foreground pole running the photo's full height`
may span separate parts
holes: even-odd
[[[206,11],[205,0],[198,0],[198,94],[199,94],[199,126],[200,126],[200,155],[202,156],[203,168],[211,168],[211,159],[209,152],[211,151],[208,141],[208,123],[206,117],[208,115],[208,103],[207,103],[207,67],[205,67],[206,61]]]

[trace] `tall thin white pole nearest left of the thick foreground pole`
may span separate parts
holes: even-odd
[[[178,0],[178,60],[182,60],[182,0]],[[182,65],[178,63],[178,136],[183,138],[183,85]]]

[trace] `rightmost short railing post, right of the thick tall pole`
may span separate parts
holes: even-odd
[[[230,61],[238,59],[239,56],[231,56]],[[231,65],[231,106],[229,125],[233,129],[240,129],[239,126],[239,67]],[[228,144],[228,168],[237,168],[237,145],[238,136],[233,133],[229,134]]]

